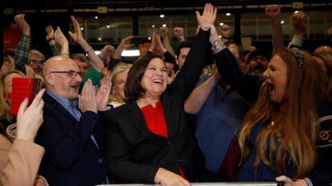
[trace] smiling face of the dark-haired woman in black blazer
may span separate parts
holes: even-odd
[[[162,59],[151,59],[141,79],[146,98],[159,97],[167,87],[167,69]]]

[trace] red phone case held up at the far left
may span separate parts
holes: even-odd
[[[19,105],[28,98],[30,105],[41,88],[40,79],[13,78],[12,79],[12,114],[17,114]]]

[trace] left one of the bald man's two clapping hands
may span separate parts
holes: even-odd
[[[92,111],[97,114],[98,105],[95,96],[95,87],[91,83],[91,79],[88,79],[84,83],[81,94],[78,96],[78,108],[81,112]]]

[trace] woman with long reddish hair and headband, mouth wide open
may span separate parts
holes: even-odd
[[[316,103],[324,87],[320,66],[307,52],[284,49],[273,56],[259,79],[243,74],[234,65],[232,53],[221,41],[217,43],[223,48],[214,52],[219,72],[239,94],[255,103],[238,135],[241,164],[237,180],[274,181],[282,175],[305,178],[317,158]]]

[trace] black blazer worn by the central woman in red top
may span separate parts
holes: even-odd
[[[105,156],[109,176],[118,183],[154,183],[159,167],[195,182],[205,158],[190,132],[184,101],[194,89],[210,50],[210,30],[201,30],[185,65],[161,96],[168,138],[153,134],[135,101],[110,110],[105,120]]]

